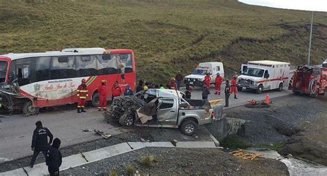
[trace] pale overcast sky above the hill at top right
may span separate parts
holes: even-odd
[[[327,0],[239,0],[258,6],[327,12]]]

